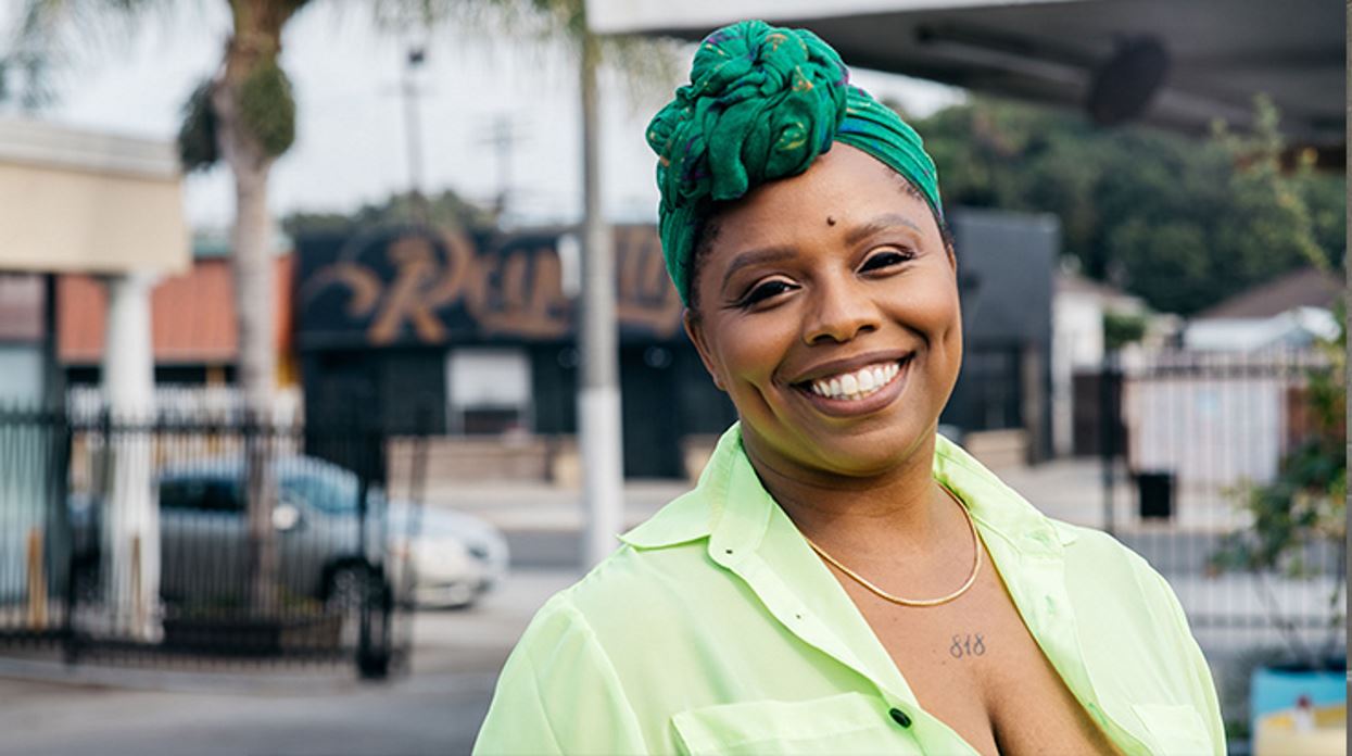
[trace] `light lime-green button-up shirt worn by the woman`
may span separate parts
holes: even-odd
[[[1129,755],[1225,752],[1210,669],[1168,584],[1044,517],[938,440],[1019,614]],[[972,747],[761,486],[733,426],[698,487],[553,596],[507,660],[475,753],[938,753]]]

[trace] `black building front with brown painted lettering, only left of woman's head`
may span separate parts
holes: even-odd
[[[308,412],[377,415],[395,431],[576,433],[576,245],[564,230],[296,242]],[[735,415],[685,338],[656,231],[615,229],[615,262],[625,471],[683,476],[681,440]]]

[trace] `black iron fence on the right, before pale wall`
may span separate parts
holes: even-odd
[[[1313,348],[1178,350],[1095,379],[1096,414],[1121,418],[1095,440],[1105,525],[1178,592],[1232,734],[1256,665],[1345,668],[1340,372]]]

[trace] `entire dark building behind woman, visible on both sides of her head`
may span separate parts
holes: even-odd
[[[967,362],[945,412],[963,430],[1049,423],[1045,219],[953,214]],[[576,242],[553,229],[466,238],[373,229],[296,239],[295,346],[311,419],[395,433],[577,430]],[[735,419],[681,329],[652,226],[615,229],[625,472],[685,475],[683,441]],[[1048,426],[1049,427],[1049,426]]]

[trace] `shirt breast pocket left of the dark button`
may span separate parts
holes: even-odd
[[[672,717],[684,753],[919,753],[880,698],[752,701]]]

